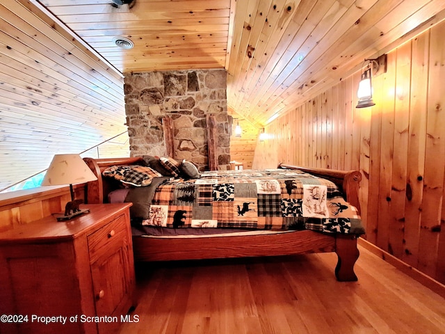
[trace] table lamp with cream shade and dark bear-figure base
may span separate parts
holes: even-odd
[[[44,175],[42,186],[60,186],[70,184],[71,201],[65,205],[65,214],[55,214],[58,221],[69,220],[90,212],[89,209],[79,209],[83,200],[74,199],[73,184],[97,180],[88,165],[79,154],[56,154]]]

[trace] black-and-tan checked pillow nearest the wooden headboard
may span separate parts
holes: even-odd
[[[114,177],[122,183],[131,184],[132,186],[148,186],[152,183],[154,177],[162,175],[156,170],[145,166],[111,166],[106,168],[102,175]]]

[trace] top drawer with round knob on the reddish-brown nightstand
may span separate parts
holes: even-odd
[[[122,215],[89,234],[87,238],[90,263],[94,263],[104,254],[109,254],[116,246],[127,244],[129,239],[127,231],[127,221]]]

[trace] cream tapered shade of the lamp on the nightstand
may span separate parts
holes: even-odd
[[[97,177],[79,154],[56,154],[44,175],[42,186],[78,184],[95,180]]]

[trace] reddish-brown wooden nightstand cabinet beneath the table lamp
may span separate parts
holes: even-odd
[[[135,305],[130,206],[83,205],[90,213],[71,221],[49,216],[0,233],[0,333],[118,328]]]

